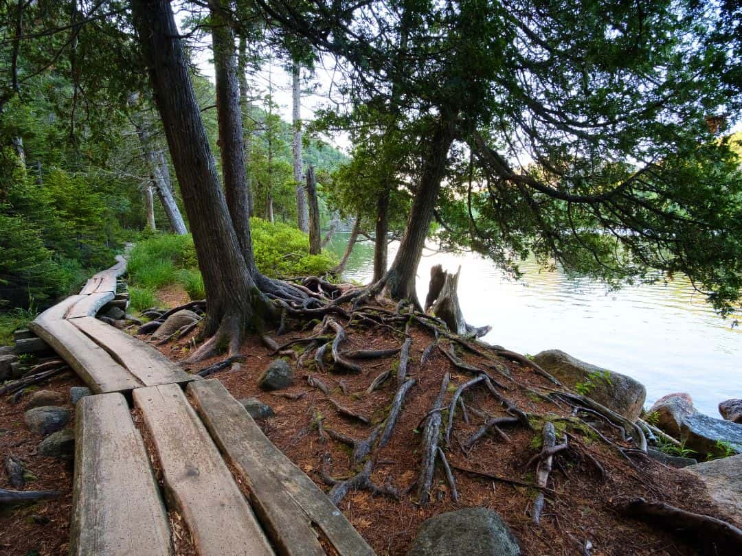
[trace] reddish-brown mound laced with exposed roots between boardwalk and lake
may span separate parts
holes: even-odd
[[[351,308],[347,310],[350,314]],[[352,313],[350,322],[332,317],[347,335],[338,346],[339,360],[333,361],[330,345],[337,339],[337,330],[327,326],[327,320],[315,320],[303,331],[289,331],[280,337],[274,331],[272,337],[284,346],[279,353],[266,348],[260,338],[248,337],[240,347],[240,353],[246,356],[240,368],[219,371],[214,376],[237,399],[257,397],[274,408],[275,417],[260,422],[267,436],[315,483],[324,486],[331,497],[341,496],[338,507],[378,554],[404,555],[422,521],[469,506],[498,512],[518,537],[526,555],[696,553],[680,537],[622,517],[618,507],[635,497],[729,520],[709,500],[696,477],[632,451],[631,439],[623,440],[618,428],[600,417],[588,411],[578,412],[564,400],[555,402],[548,398],[546,394],[562,388],[530,365],[513,362],[512,357],[497,357],[496,351],[481,344],[476,344],[476,350],[481,352],[476,354],[462,342],[446,337],[439,337],[437,345],[431,348],[436,340],[432,329],[408,317],[394,317],[393,307],[361,311],[366,316],[358,318],[358,312]],[[395,321],[401,321],[401,325],[395,325]],[[301,326],[301,322],[293,324]],[[318,341],[306,340],[312,336],[318,336]],[[387,426],[387,416],[401,385],[397,380],[400,355],[396,350],[407,339],[411,340],[409,360],[402,380],[415,382],[404,396],[388,443],[382,447],[379,431]],[[287,346],[292,340],[302,341]],[[183,360],[188,355],[189,342],[194,345],[191,338],[184,338],[160,349],[173,360]],[[317,354],[318,348],[323,357]],[[352,352],[372,350],[394,353],[374,359],[351,357]],[[425,362],[421,363],[424,354]],[[281,391],[262,391],[257,378],[276,357],[292,363],[294,383]],[[194,371],[218,361],[218,357],[206,360]],[[496,398],[482,380],[464,389],[466,417],[462,406],[456,404],[450,442],[445,443],[450,400],[457,388],[479,376],[475,369],[499,383],[496,391],[516,411],[506,411],[502,399]],[[384,371],[390,371],[387,380],[368,392]],[[450,464],[458,501],[453,500],[444,467],[436,458],[428,492],[430,503],[423,506],[418,498],[422,436],[427,418],[436,413],[431,408],[447,374],[450,383],[445,388],[440,412],[439,447]],[[525,412],[532,428],[525,426],[525,421],[511,419],[516,423],[503,424],[497,432],[491,429],[470,443],[487,420],[513,417],[517,409]],[[575,418],[578,415],[583,421]],[[547,487],[539,489],[536,466],[540,460],[533,458],[542,449],[541,431],[547,421],[554,424],[557,444],[567,435],[568,447],[554,455]],[[381,428],[377,430],[378,427]],[[355,457],[354,446],[349,445],[353,440],[355,453],[359,443],[370,440],[370,453]],[[354,481],[351,487],[362,483],[370,488],[350,488],[342,496],[340,491],[344,489],[338,489],[338,482],[358,479],[359,472],[369,468],[370,482]],[[539,492],[544,494],[545,505],[540,524],[536,525],[533,511]]]

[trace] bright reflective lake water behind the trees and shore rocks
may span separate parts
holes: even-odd
[[[335,234],[329,249],[340,257],[347,238]],[[390,263],[396,249],[390,245]],[[419,299],[427,294],[431,266],[456,271],[462,265],[459,302],[471,325],[492,326],[487,342],[528,354],[558,348],[628,374],[646,386],[647,408],[684,391],[699,411],[719,417],[720,401],[742,398],[742,314],[721,319],[687,279],[608,291],[533,262],[521,265],[523,279],[516,281],[477,254],[430,253],[418,268]],[[372,243],[356,243],[344,279],[370,282],[372,263]],[[735,320],[741,325],[732,327]]]

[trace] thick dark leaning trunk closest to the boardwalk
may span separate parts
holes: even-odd
[[[133,0],[131,7],[209,299],[204,334],[220,341],[255,324],[268,305],[232,226],[170,2]]]

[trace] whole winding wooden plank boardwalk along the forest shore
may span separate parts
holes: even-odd
[[[96,320],[116,260],[30,325],[94,393],[76,409],[70,554],[171,555],[174,511],[200,555],[373,555],[218,380]]]

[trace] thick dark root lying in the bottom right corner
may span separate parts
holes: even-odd
[[[686,512],[666,503],[634,498],[618,506],[621,514],[690,537],[703,554],[742,554],[742,530],[708,515]]]

